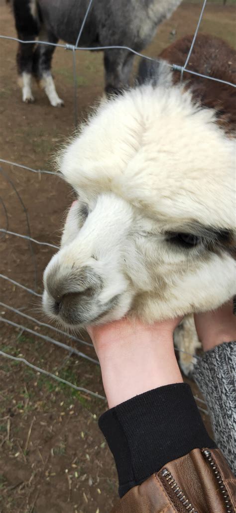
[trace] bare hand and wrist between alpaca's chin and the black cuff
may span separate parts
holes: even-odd
[[[125,318],[87,328],[110,408],[153,388],[182,382],[173,344],[173,331],[180,321],[147,325]]]

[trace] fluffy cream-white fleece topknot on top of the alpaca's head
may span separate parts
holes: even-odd
[[[165,221],[231,228],[235,145],[214,121],[179,87],[139,87],[101,106],[61,171],[78,192],[110,190]]]

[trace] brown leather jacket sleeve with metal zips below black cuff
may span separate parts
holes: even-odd
[[[129,490],[112,513],[234,513],[235,489],[219,449],[194,449]]]

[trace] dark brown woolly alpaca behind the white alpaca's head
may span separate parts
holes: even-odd
[[[163,50],[159,57],[170,64],[183,66],[190,50],[193,35],[187,35]],[[236,82],[236,52],[219,37],[199,34],[195,41],[187,69],[203,75]],[[227,135],[236,133],[236,88],[184,72],[186,88],[205,107],[217,111],[218,123]],[[180,72],[173,71],[173,83],[180,80]]]

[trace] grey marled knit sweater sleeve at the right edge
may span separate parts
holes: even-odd
[[[236,475],[236,342],[224,342],[199,358],[194,379],[210,413],[215,441]]]

